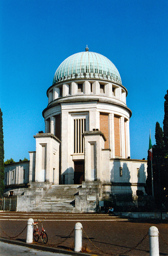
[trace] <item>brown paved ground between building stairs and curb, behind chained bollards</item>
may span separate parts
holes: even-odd
[[[61,242],[57,245],[58,248],[73,250],[74,231],[68,239],[62,241],[71,233],[75,223],[81,222],[85,232],[83,232],[82,240],[84,251],[101,255],[124,253],[125,256],[149,256],[148,231],[151,226],[155,225],[160,232],[160,255],[168,255],[168,221],[160,223],[155,220],[120,218],[109,214],[0,212],[0,236],[5,238],[15,236],[23,230],[28,218],[32,217],[36,220],[42,219],[43,216],[46,217],[43,224],[48,235],[48,244]],[[147,237],[135,249],[129,251],[146,234]],[[25,241],[26,228],[14,239]],[[38,244],[42,244],[42,241],[39,240]]]

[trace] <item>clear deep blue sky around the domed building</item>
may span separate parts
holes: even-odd
[[[4,160],[29,159],[54,73],[86,44],[118,68],[133,113],[131,158],[147,159],[168,89],[167,0],[2,0],[0,33]]]

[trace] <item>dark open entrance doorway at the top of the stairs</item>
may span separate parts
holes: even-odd
[[[74,161],[74,184],[82,184],[84,180],[84,161]]]

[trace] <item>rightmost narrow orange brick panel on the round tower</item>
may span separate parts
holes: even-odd
[[[120,116],[114,116],[114,137],[115,137],[115,156],[121,156],[120,146]]]

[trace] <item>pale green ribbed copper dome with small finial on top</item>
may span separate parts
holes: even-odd
[[[72,78],[101,78],[122,84],[121,77],[116,66],[107,57],[86,51],[75,53],[66,58],[57,68],[53,84],[61,80]]]

